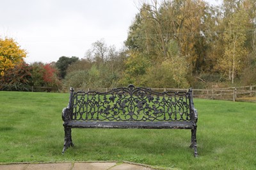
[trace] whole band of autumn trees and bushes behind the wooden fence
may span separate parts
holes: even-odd
[[[255,0],[170,0],[141,3],[124,48],[104,39],[83,58],[52,63],[24,61],[26,50],[0,38],[0,88],[31,86],[114,88],[212,88],[256,84]]]

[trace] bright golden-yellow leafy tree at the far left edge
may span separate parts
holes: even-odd
[[[26,58],[26,51],[12,38],[0,38],[0,75],[4,75],[6,70],[19,65]]]

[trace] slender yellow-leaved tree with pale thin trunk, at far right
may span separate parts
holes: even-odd
[[[230,3],[231,6],[227,15],[227,27],[223,34],[224,55],[218,59],[218,68],[223,72],[223,75],[228,77],[228,80],[234,84],[236,75],[241,74],[243,70],[244,59],[248,54],[248,49],[245,47],[246,29],[249,24],[248,13],[241,8],[238,2]],[[233,13],[232,13],[233,12]]]

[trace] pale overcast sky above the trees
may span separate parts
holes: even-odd
[[[92,43],[102,38],[119,50],[124,47],[140,2],[0,0],[0,38],[19,43],[28,52],[26,63],[51,63],[61,56],[84,58]]]

